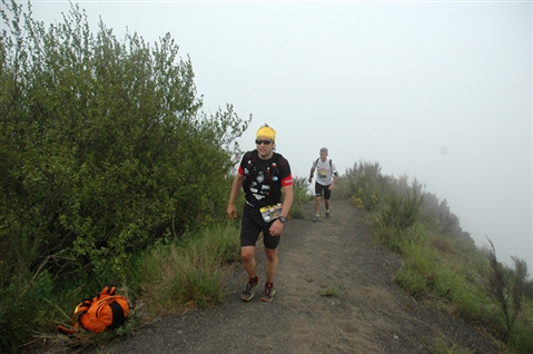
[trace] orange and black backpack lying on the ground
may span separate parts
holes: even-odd
[[[73,328],[58,325],[58,330],[65,334],[72,334],[78,332],[81,325],[86,331],[100,333],[122,325],[129,314],[129,304],[126,297],[115,295],[115,286],[106,286],[95,298],[83,299],[72,314]]]

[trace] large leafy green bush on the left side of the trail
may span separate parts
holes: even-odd
[[[201,111],[168,33],[154,47],[102,22],[92,33],[78,6],[48,29],[30,3],[0,11],[3,351],[38,328],[8,315],[20,301],[34,318],[24,296],[43,275],[56,285],[81,274],[97,292],[130,276],[135,252],[224,217],[230,144],[250,120],[230,105]]]

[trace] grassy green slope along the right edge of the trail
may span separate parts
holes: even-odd
[[[511,351],[531,352],[531,308],[523,311],[531,286],[525,262],[513,258],[515,269],[510,269],[495,255],[487,260],[461,229],[446,200],[425,193],[416,179],[409,185],[406,176],[378,178],[383,180],[386,184],[379,189],[367,188],[378,190],[378,203],[368,207],[364,200],[372,201],[373,195],[365,196],[363,187],[352,189],[352,199],[372,210],[375,239],[402,255],[404,265],[395,281],[411,295],[431,298],[435,307],[500,333]],[[367,186],[378,186],[378,181],[367,181]]]

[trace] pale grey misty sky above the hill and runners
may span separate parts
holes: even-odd
[[[325,146],[342,174],[367,160],[416,178],[477,246],[533,273],[530,1],[78,3],[93,32],[99,17],[119,39],[169,32],[206,111],[253,115],[243,149],[267,122],[296,177]],[[32,7],[47,23],[69,9]]]

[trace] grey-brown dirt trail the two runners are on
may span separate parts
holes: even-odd
[[[306,205],[312,215],[312,204]],[[471,353],[499,353],[472,326],[437,313],[393,281],[398,257],[373,243],[367,214],[348,200],[332,217],[287,222],[272,303],[239,299],[246,273],[227,275],[225,303],[161,318],[98,353],[431,353],[437,337]],[[237,236],[236,236],[237,237]],[[258,275],[265,256],[257,247]],[[340,296],[322,296],[338,287]]]

